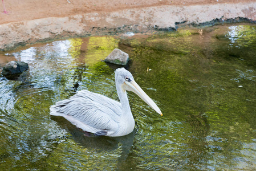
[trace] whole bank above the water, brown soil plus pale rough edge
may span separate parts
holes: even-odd
[[[5,7],[8,13],[0,14],[0,50],[99,32],[172,30],[178,23],[256,21],[252,0],[6,0]]]

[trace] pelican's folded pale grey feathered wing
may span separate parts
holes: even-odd
[[[105,135],[117,131],[121,104],[103,95],[82,90],[52,105],[50,115],[63,116],[87,132]]]

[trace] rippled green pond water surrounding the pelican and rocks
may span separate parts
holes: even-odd
[[[124,137],[86,137],[50,117],[50,105],[81,89],[118,100],[116,66],[101,62],[114,48],[163,116],[128,93],[136,126]],[[0,170],[256,168],[255,25],[59,40],[0,59],[30,67],[23,80],[0,77]]]

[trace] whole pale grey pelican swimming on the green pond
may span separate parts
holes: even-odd
[[[116,90],[120,102],[87,90],[77,92],[70,99],[58,101],[50,107],[50,115],[62,116],[83,131],[95,136],[124,136],[131,133],[135,121],[126,91],[135,92],[162,116],[154,101],[135,82],[124,68],[115,71]]]

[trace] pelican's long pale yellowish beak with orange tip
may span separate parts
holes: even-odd
[[[150,107],[152,107],[157,113],[162,116],[162,112],[159,107],[157,107],[156,103],[140,88],[140,86],[132,80],[131,82],[125,81],[123,84],[123,88],[135,92],[141,99],[143,99]]]

